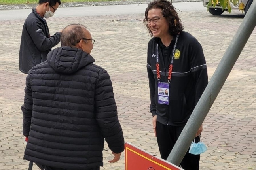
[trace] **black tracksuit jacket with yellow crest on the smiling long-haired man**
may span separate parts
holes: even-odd
[[[168,50],[173,50],[172,40]],[[148,43],[147,70],[150,88],[150,112],[164,125],[184,126],[208,83],[207,67],[200,43],[188,32],[180,33],[173,61],[169,88],[169,105],[158,104],[156,46],[159,43],[161,82],[167,82],[168,64],[160,48],[160,38]],[[165,63],[165,64],[164,64]]]

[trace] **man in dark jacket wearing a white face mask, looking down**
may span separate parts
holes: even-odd
[[[50,35],[44,18],[52,17],[61,4],[61,0],[39,0],[36,8],[28,15],[22,30],[19,50],[19,70],[25,74],[46,61],[51,48],[60,42],[61,31]]]

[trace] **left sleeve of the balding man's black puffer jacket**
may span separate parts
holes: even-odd
[[[28,72],[28,76],[26,78],[26,87],[25,87],[25,97],[24,104],[21,106],[21,111],[23,113],[23,135],[28,137],[31,125],[31,117],[32,117],[32,91],[29,83],[30,72]]]

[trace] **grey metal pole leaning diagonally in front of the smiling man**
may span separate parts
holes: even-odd
[[[252,34],[255,25],[256,0],[252,2],[235,36],[229,44],[228,49],[220,60],[216,71],[212,75],[209,84],[205,88],[205,91],[195,106],[190,119],[180,134],[180,137],[174,145],[169,157],[167,158],[168,162],[171,162],[177,166],[180,165],[180,162],[190,147],[197,130],[207,116],[207,113],[218,96],[220,89],[224,85],[229,73],[231,72],[248,38],[250,37],[250,34]]]

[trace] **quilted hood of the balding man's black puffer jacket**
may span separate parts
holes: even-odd
[[[47,55],[49,65],[59,73],[72,74],[95,62],[93,57],[78,48],[58,47]]]

